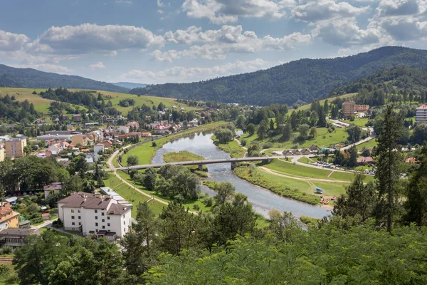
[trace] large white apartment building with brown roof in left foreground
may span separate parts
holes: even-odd
[[[58,201],[58,216],[66,230],[113,240],[129,232],[131,208],[109,195],[77,192]]]

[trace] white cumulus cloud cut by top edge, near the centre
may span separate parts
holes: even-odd
[[[280,19],[290,6],[295,6],[295,0],[186,0],[182,9],[189,17],[226,24],[239,17]]]

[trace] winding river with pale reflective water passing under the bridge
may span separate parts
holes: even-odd
[[[164,163],[163,155],[165,153],[172,151],[178,152],[180,150],[188,150],[206,159],[229,158],[230,155],[228,155],[227,152],[220,150],[214,145],[211,136],[212,133],[199,133],[190,135],[187,138],[179,138],[172,142],[168,142],[157,150],[152,163]],[[268,217],[268,211],[270,211],[270,209],[278,209],[281,212],[292,212],[295,217],[308,216],[318,219],[330,214],[325,207],[314,206],[294,199],[281,197],[269,190],[265,190],[246,180],[242,180],[231,170],[230,163],[212,164],[207,165],[207,167],[210,180],[233,183],[237,192],[242,192],[244,195],[248,196],[248,201],[253,205],[255,212],[263,214],[264,217]],[[215,195],[215,192],[208,187],[202,187],[202,192],[206,192],[211,196]]]

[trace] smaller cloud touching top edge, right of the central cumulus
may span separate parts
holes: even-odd
[[[307,4],[296,6],[292,10],[292,18],[317,22],[342,17],[352,17],[369,11],[369,7],[355,7],[348,2],[336,2],[335,0],[310,0]]]

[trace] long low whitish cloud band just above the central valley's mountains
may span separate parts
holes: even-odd
[[[253,61],[236,61],[235,63],[227,63],[223,66],[209,68],[184,68],[176,66],[167,68],[164,71],[142,71],[135,69],[122,74],[120,79],[123,81],[147,83],[191,82],[218,76],[228,76],[235,73],[257,71],[267,66],[267,61],[257,58]]]

